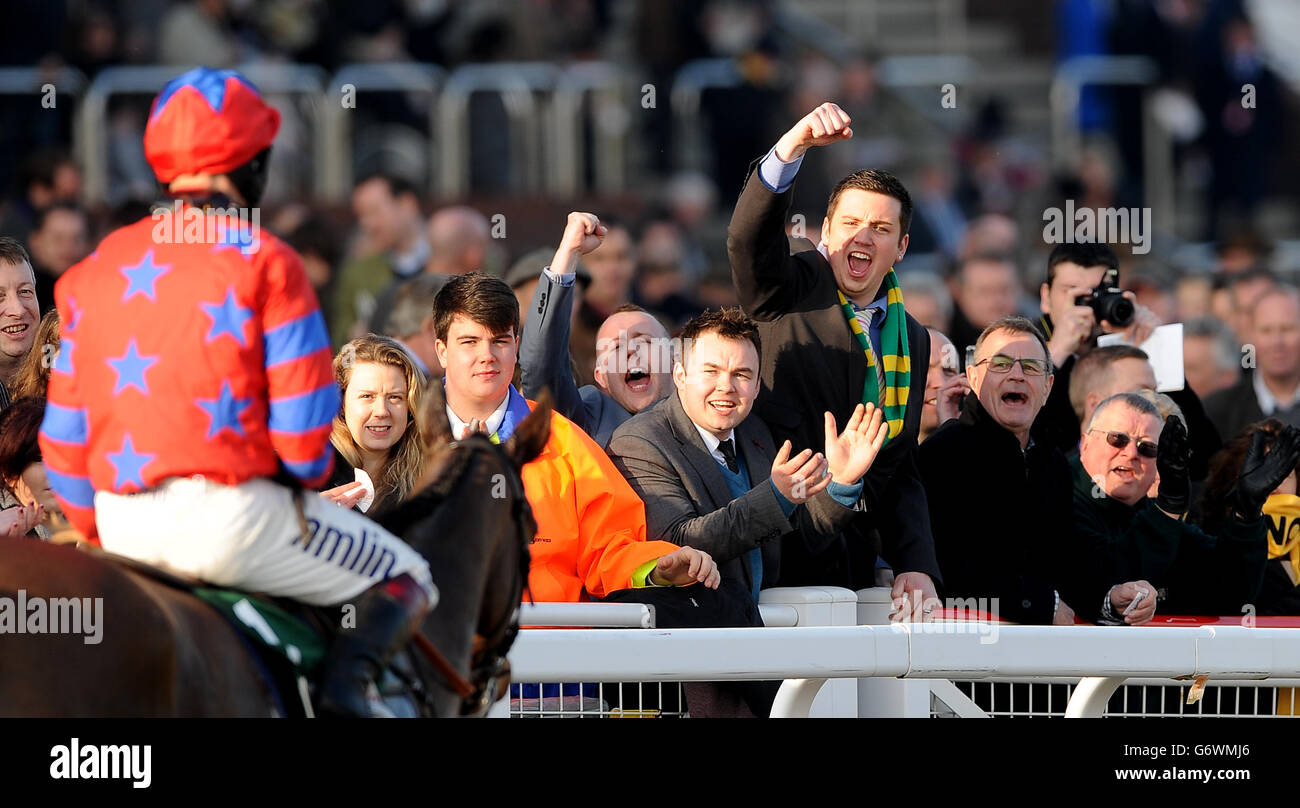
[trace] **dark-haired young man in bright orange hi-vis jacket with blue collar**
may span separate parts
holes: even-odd
[[[482,273],[450,281],[434,301],[447,418],[460,439],[504,442],[532,412],[511,378],[519,357],[519,301]],[[645,505],[595,442],[559,413],[542,453],[521,473],[537,520],[528,585],[536,601],[578,601],[649,586],[718,588],[708,553],[647,542]]]

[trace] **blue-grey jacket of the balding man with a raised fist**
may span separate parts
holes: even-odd
[[[538,275],[519,344],[521,392],[536,401],[542,390],[549,388],[555,399],[555,410],[604,448],[614,430],[632,413],[599,387],[586,385],[578,388],[569,366],[568,347],[573,287],[551,281],[546,273]]]

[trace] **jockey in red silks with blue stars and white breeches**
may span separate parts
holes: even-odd
[[[355,599],[317,708],[368,716],[370,683],[437,595],[402,539],[272,479],[281,464],[307,487],[329,478],[339,409],[300,259],[235,214],[257,204],[278,129],[230,70],[198,68],[155,99],[144,153],[177,201],[60,278],[40,448],[65,513],[107,551],[313,605]]]

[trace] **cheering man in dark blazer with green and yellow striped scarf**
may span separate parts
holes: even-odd
[[[768,347],[755,412],[776,440],[790,440],[794,451],[819,446],[822,413],[844,423],[863,401],[881,405],[889,425],[863,478],[861,513],[828,551],[788,553],[783,577],[868,587],[879,553],[897,572],[900,616],[919,618],[936,598],[939,564],[916,470],[930,335],[904,310],[893,273],[907,251],[911,199],[887,171],[855,171],[831,192],[816,249],[792,256],[785,236],[803,153],[852,138],[849,125],[837,105],[822,104],[754,164],[727,249],[741,305]]]

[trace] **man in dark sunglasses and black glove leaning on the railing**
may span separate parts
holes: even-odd
[[[1187,427],[1162,425],[1143,396],[1122,392],[1092,410],[1074,469],[1075,564],[1100,579],[1141,578],[1161,613],[1240,614],[1268,560],[1261,508],[1300,459],[1300,433],[1252,446],[1232,488],[1232,517],[1218,537],[1183,521],[1190,500]],[[1148,498],[1160,473],[1156,498]],[[1150,583],[1147,585],[1145,582]],[[1112,590],[1104,621],[1123,620],[1124,594]],[[1139,607],[1141,608],[1141,607]]]

